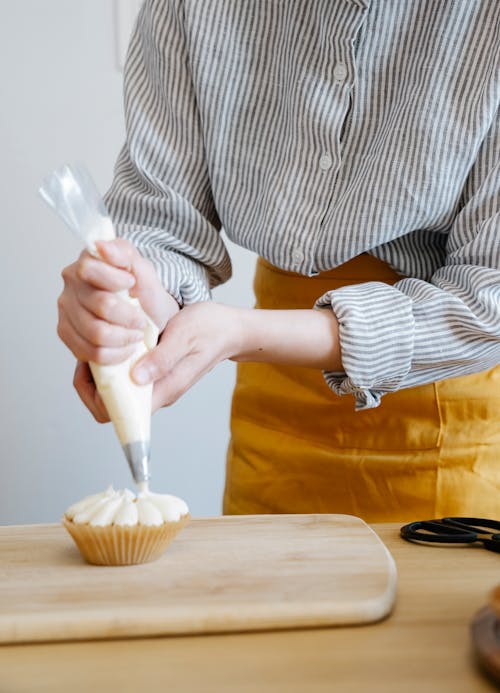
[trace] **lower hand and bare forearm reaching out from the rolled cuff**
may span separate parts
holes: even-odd
[[[251,310],[217,303],[183,308],[158,346],[132,369],[154,383],[153,410],[173,404],[224,359],[342,370],[338,323],[330,310]]]

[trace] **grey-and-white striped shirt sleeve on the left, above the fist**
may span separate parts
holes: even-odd
[[[126,142],[105,202],[118,236],[153,262],[180,304],[231,274],[220,236],[181,2],[147,0],[125,66]]]

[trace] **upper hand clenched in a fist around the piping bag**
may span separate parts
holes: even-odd
[[[142,312],[117,292],[126,289],[138,298],[160,333],[179,306],[163,288],[153,264],[131,243],[116,239],[96,245],[102,259],[83,251],[62,272],[57,332],[79,361],[73,382],[80,398],[98,421],[107,421],[87,362],[124,361],[144,339],[147,324]]]

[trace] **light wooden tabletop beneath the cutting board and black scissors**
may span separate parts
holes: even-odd
[[[480,547],[409,544],[374,525],[399,575],[393,614],[369,626],[0,647],[1,693],[480,693],[469,623],[500,583]],[[36,585],[33,586],[36,589]],[[1,589],[1,585],[0,585]]]

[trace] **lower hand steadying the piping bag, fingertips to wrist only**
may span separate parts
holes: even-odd
[[[153,411],[176,402],[220,361],[238,353],[239,312],[207,301],[186,306],[169,320],[158,346],[132,369],[137,383],[154,383]]]

